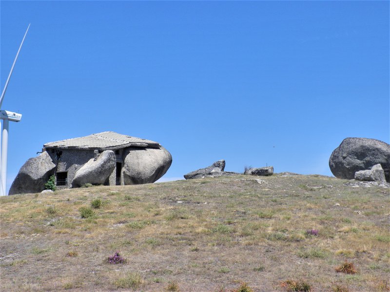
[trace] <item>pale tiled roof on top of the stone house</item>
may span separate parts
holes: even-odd
[[[129,146],[136,147],[159,147],[155,141],[141,139],[137,137],[118,134],[116,132],[101,132],[98,134],[92,134],[85,137],[61,140],[57,142],[50,142],[43,145],[45,148],[73,148],[73,149],[85,149],[85,148],[124,148]]]

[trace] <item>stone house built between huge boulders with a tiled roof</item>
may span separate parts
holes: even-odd
[[[155,141],[101,132],[44,144],[20,168],[10,194],[40,192],[53,174],[57,188],[154,183],[171,163],[171,154]]]

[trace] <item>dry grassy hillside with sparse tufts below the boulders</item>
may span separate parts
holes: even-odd
[[[389,209],[389,188],[315,175],[2,197],[0,290],[388,291]]]

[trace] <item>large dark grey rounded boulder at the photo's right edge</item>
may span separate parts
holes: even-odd
[[[354,179],[355,173],[381,164],[390,182],[390,145],[375,139],[346,138],[333,150],[329,167],[336,178]]]

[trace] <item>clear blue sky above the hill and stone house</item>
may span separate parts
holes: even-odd
[[[346,137],[389,143],[389,1],[1,1],[8,188],[43,144],[102,131],[159,142],[164,179],[331,175]],[[275,147],[274,147],[275,146]]]

